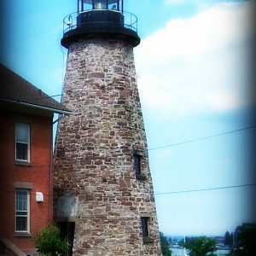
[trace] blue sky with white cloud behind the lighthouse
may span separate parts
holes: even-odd
[[[49,96],[61,94],[62,20],[76,3],[0,3],[1,62]],[[256,222],[255,186],[216,189],[256,183],[255,127],[245,129],[256,125],[255,1],[126,0],[125,10],[138,18],[137,84],[160,231],[224,235]]]

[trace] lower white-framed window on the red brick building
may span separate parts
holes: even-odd
[[[15,232],[30,232],[30,190],[15,191]]]

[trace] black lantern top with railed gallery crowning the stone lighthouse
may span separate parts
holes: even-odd
[[[68,48],[80,38],[121,38],[135,47],[137,17],[124,11],[124,0],[78,0],[78,11],[64,18],[61,44]]]

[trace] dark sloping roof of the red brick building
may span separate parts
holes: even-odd
[[[0,63],[0,102],[15,102],[55,113],[71,113],[60,102]]]

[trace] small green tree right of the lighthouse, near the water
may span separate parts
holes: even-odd
[[[183,244],[183,247],[189,249],[190,256],[217,256],[217,241],[206,236],[192,237]]]

